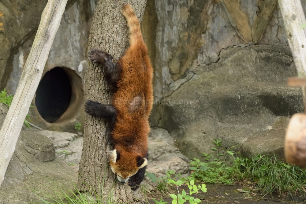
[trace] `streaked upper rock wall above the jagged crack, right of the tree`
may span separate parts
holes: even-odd
[[[250,44],[288,46],[276,0],[149,0],[148,4],[152,5],[147,10],[155,11],[150,18],[157,21],[152,61],[158,99],[191,79],[192,63],[215,63],[222,49]],[[151,26],[144,35],[154,30]]]

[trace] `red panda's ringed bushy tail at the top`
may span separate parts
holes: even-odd
[[[136,17],[136,15],[134,13],[134,10],[132,9],[132,7],[129,4],[126,4],[125,6],[123,6],[122,14],[124,15],[124,17],[128,21],[128,26],[129,26],[129,29],[130,29],[130,44],[131,44],[131,46],[136,44],[137,41],[139,41],[139,40],[143,41],[141,30],[140,30],[140,22],[139,22],[138,18]]]

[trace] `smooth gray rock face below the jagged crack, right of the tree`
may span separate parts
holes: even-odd
[[[282,152],[289,117],[304,110],[300,89],[286,85],[296,75],[288,49],[228,48],[217,63],[191,71],[192,79],[161,101],[155,121],[183,154],[201,158],[215,138],[246,155]]]

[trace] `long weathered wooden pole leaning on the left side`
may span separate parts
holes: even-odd
[[[16,93],[0,130],[0,186],[11,160],[24,118],[28,110],[51,45],[58,30],[67,0],[49,0],[41,15],[40,24],[24,65]]]

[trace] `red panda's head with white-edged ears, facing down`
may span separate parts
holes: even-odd
[[[138,169],[146,166],[147,163],[146,158],[124,150],[114,149],[110,155],[110,167],[123,184],[129,180],[129,177],[136,174]]]

